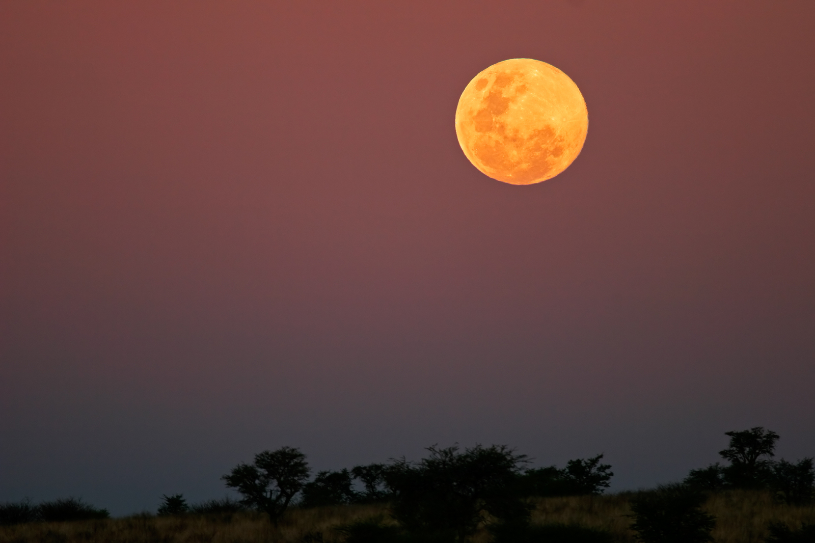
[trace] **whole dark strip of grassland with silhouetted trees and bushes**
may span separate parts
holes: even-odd
[[[156,517],[117,520],[74,498],[6,503],[0,543],[815,543],[813,458],[774,460],[778,435],[760,426],[726,435],[724,465],[610,496],[614,474],[601,454],[528,469],[525,455],[503,445],[430,447],[418,461],[309,480],[305,455],[284,447],[223,476],[240,501],[164,495]]]

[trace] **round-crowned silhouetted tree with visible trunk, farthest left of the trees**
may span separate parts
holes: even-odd
[[[309,471],[305,454],[297,448],[282,447],[256,454],[253,464],[240,463],[221,479],[243,495],[241,503],[262,510],[276,526],[303,488]]]

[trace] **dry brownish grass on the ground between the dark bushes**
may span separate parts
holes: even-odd
[[[602,528],[620,543],[633,543],[627,514],[631,493],[610,496],[542,498],[535,501],[532,522],[580,523]],[[760,543],[770,521],[798,528],[815,522],[815,505],[793,507],[773,501],[767,492],[729,491],[712,495],[707,510],[716,515],[716,543]],[[221,516],[186,515],[75,523],[30,523],[0,528],[0,543],[339,543],[333,530],[341,524],[387,516],[384,505],[345,505],[311,510],[290,510],[276,528],[262,514]],[[321,534],[322,539],[320,539]],[[474,543],[487,543],[486,532]]]

